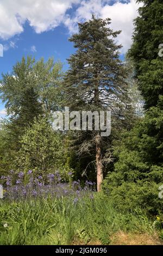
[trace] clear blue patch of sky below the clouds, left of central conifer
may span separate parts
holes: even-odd
[[[28,55],[34,56],[36,59],[43,57],[45,60],[53,56],[55,60],[60,59],[65,63],[64,68],[67,68],[66,58],[74,52],[74,48],[73,44],[68,41],[70,34],[64,26],[58,26],[54,30],[40,34],[35,33],[28,22],[23,28],[24,32],[21,35],[8,40],[9,44],[14,41],[15,46],[10,46],[7,51],[4,51],[3,58],[0,58],[1,72],[10,72],[17,60]],[[2,44],[1,40],[0,42]]]

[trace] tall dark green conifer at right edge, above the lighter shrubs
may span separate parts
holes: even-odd
[[[146,130],[142,137],[154,142],[147,143],[146,154],[149,162],[160,165],[163,154],[163,54],[159,54],[162,51],[159,47],[163,43],[163,3],[160,0],[137,2],[142,2],[143,6],[135,20],[129,56],[134,60],[139,88],[145,99]]]

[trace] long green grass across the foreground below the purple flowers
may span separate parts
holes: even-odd
[[[8,227],[4,227],[7,224]],[[70,245],[82,241],[109,244],[118,231],[155,232],[145,212],[117,212],[95,193],[73,203],[70,198],[0,202],[0,245]]]

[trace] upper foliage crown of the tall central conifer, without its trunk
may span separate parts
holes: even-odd
[[[119,120],[120,112],[123,117],[130,107],[124,80],[127,70],[119,59],[122,46],[113,39],[120,31],[113,32],[110,23],[110,19],[92,16],[89,22],[79,23],[79,33],[70,38],[77,51],[68,59],[66,103],[75,110],[109,109],[113,118]]]

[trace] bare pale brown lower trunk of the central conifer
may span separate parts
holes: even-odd
[[[101,185],[103,181],[103,168],[101,157],[101,139],[100,136],[96,137],[96,167],[97,167],[97,192],[101,191]]]

